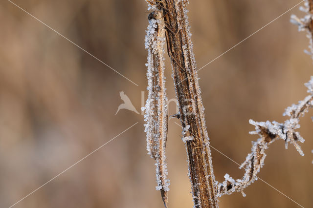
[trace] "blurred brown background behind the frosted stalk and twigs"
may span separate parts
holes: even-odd
[[[154,160],[147,155],[143,116],[120,110],[124,91],[140,112],[145,91],[144,0],[14,0],[68,39],[134,83],[60,37],[7,0],[0,2],[0,207],[8,208],[92,150],[15,208],[162,208],[155,190]],[[295,0],[191,0],[189,17],[199,68],[298,3]],[[289,22],[297,8],[199,72],[211,145],[238,163],[250,152],[255,121],[283,122],[284,109],[303,99],[313,75],[303,53],[309,40]],[[167,60],[167,93],[175,98]],[[147,92],[145,92],[147,96]],[[146,99],[146,97],[145,97]],[[174,114],[175,105],[170,104]],[[259,177],[302,206],[313,207],[313,123],[300,132],[301,157],[277,141]],[[191,208],[186,151],[181,129],[170,120],[167,143],[169,208]],[[219,181],[244,171],[212,150]],[[297,208],[256,181],[241,193],[223,196],[221,208]]]

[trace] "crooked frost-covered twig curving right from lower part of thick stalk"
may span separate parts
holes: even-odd
[[[304,139],[299,132],[295,131],[295,129],[300,127],[300,117],[304,116],[309,108],[313,108],[313,77],[311,77],[311,80],[308,83],[305,83],[305,85],[308,87],[308,92],[311,95],[307,96],[304,100],[299,101],[298,104],[292,104],[286,109],[283,115],[289,116],[290,119],[286,120],[283,124],[275,121],[249,121],[250,124],[255,125],[255,131],[250,132],[250,134],[258,134],[260,138],[252,143],[252,152],[248,154],[246,161],[240,166],[240,168],[246,170],[245,175],[242,179],[234,180],[228,174],[225,174],[224,182],[218,184],[218,196],[231,194],[235,191],[243,191],[243,189],[257,180],[256,175],[264,165],[266,157],[265,150],[268,148],[268,145],[275,140],[285,140],[286,148],[288,147],[288,143],[290,143],[297,149],[300,155],[304,155],[301,147],[297,143],[303,143]]]

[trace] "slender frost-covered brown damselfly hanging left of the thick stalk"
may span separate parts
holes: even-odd
[[[165,93],[164,77],[164,43],[165,28],[163,13],[156,8],[156,3],[151,4],[153,11],[149,14],[149,25],[145,38],[145,46],[148,49],[148,99],[145,107],[145,131],[147,132],[148,154],[156,160],[156,189],[161,191],[162,200],[166,207],[168,202],[167,191],[169,180],[167,179],[167,167],[165,162],[165,146],[167,138],[167,97]]]

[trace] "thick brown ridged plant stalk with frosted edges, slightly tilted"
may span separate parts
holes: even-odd
[[[182,140],[187,150],[194,205],[197,208],[217,208],[217,188],[189,31],[187,3],[186,0],[163,0],[159,4],[166,14],[168,54],[178,99],[178,117],[183,126]]]

